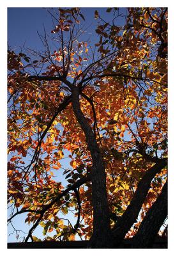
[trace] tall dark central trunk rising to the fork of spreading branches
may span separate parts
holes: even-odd
[[[109,207],[107,202],[106,175],[100,148],[96,143],[95,134],[80,109],[79,88],[72,88],[73,111],[77,121],[84,131],[89,151],[93,161],[92,168],[92,198],[93,198],[93,236],[90,239],[91,248],[112,247]]]

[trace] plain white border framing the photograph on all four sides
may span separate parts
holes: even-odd
[[[1,111],[1,119],[0,119],[0,135],[1,135],[1,142],[0,142],[0,166],[1,166],[1,211],[0,211],[0,221],[1,221],[1,231],[0,231],[0,243],[1,243],[1,251],[4,251],[4,255],[22,255],[27,253],[42,253],[42,255],[48,255],[48,250],[7,250],[6,249],[6,38],[7,38],[7,7],[135,7],[135,6],[157,6],[169,7],[169,249],[168,250],[151,250],[151,253],[155,255],[163,255],[165,253],[172,253],[174,250],[174,233],[175,233],[175,221],[174,221],[174,196],[173,192],[175,188],[174,184],[174,175],[172,173],[173,162],[172,159],[174,157],[174,145],[175,145],[175,134],[174,134],[174,125],[175,125],[175,93],[174,93],[174,86],[175,84],[172,83],[174,77],[174,5],[173,1],[103,1],[103,0],[96,0],[96,1],[80,1],[80,0],[35,0],[35,1],[25,1],[25,0],[1,0],[0,2],[0,35],[1,35],[1,45],[0,45],[0,58],[1,58],[1,84],[0,84],[0,111]],[[173,33],[172,33],[173,31]],[[70,250],[61,250],[61,251],[53,251],[52,253],[63,253],[63,255],[70,255],[72,251]],[[96,253],[97,251],[93,250],[90,253]],[[106,250],[102,252],[107,253]],[[100,252],[100,253],[102,253]],[[113,251],[110,253],[124,253],[130,254],[134,253],[135,255],[141,255],[142,253],[148,254],[150,250],[122,250],[121,251]],[[85,254],[89,255],[89,250],[73,250],[75,254]],[[97,252],[98,253],[98,252]]]

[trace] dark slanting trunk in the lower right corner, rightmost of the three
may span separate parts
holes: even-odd
[[[133,238],[133,248],[151,248],[167,217],[167,182]]]

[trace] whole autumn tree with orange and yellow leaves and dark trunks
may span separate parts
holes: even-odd
[[[49,241],[148,248],[167,218],[167,8],[128,8],[121,26],[122,11],[95,12],[93,45],[80,8],[49,10],[45,51],[8,50],[8,222],[27,214],[26,242],[41,225]]]

